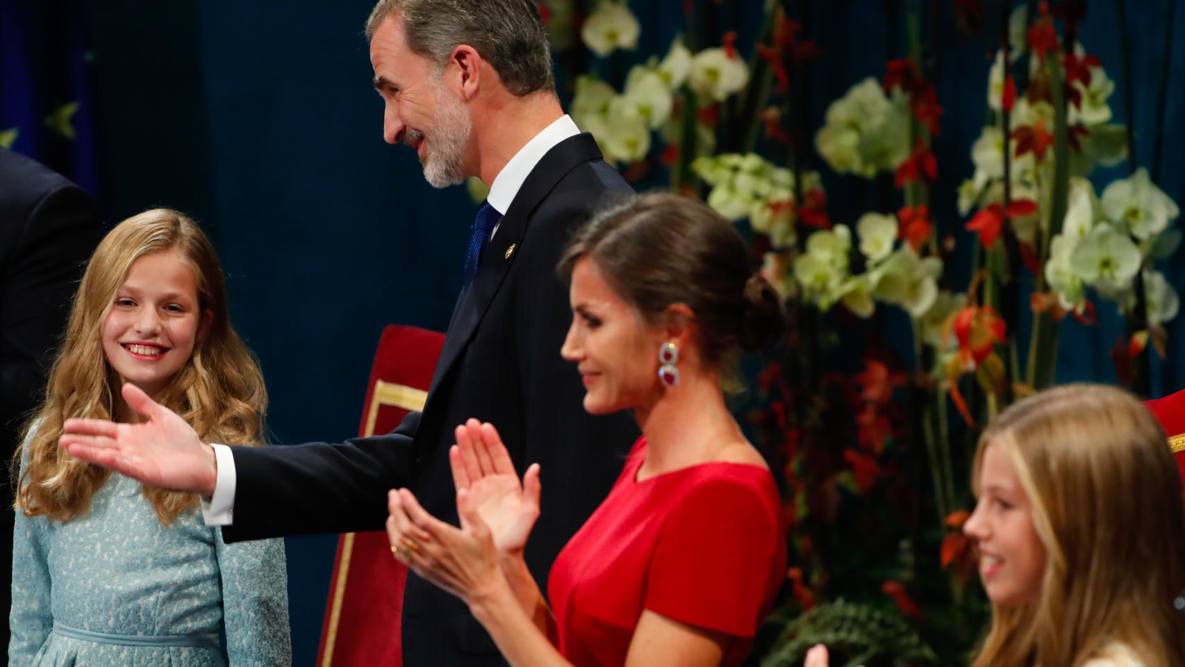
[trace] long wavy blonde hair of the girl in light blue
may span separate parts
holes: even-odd
[[[102,328],[128,269],[140,257],[177,251],[193,269],[198,306],[211,313],[193,353],[158,402],[181,416],[203,440],[255,444],[263,429],[268,397],[255,358],[231,328],[226,282],[210,239],[177,211],[153,209],[115,226],[91,256],[70,308],[65,339],[50,372],[45,400],[25,427],[13,470],[17,507],[25,515],[69,520],[85,514],[91,496],[110,474],[58,447],[69,417],[111,419],[120,380],[103,354]],[[23,453],[23,450],[25,450]],[[165,525],[197,506],[197,496],[143,487]]]

